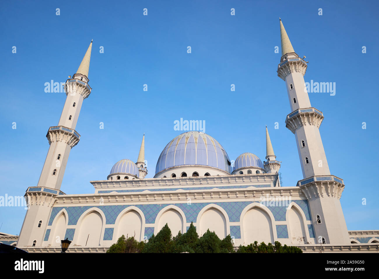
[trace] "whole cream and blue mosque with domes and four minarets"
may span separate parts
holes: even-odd
[[[310,104],[304,90],[307,62],[294,51],[281,20],[280,39],[277,75],[285,82],[290,102],[285,123],[295,136],[303,174],[296,185],[282,186],[281,161],[266,127],[263,162],[241,150],[232,164],[218,140],[188,131],[167,143],[154,177],[145,178],[143,136],[137,161],[120,158],[105,180],[91,181],[93,194],[62,192],[69,153],[80,140],[75,126],[92,90],[91,41],[64,85],[67,98],[58,125],[47,131],[50,147],[41,177],[25,193],[29,209],[19,237],[8,235],[10,241],[28,252],[60,252],[60,240],[68,238],[68,252],[105,252],[121,235],[147,240],[166,223],[177,235],[193,222],[199,235],[207,229],[221,239],[230,234],[235,246],[257,240],[279,241],[305,252],[319,247],[326,252],[376,252],[378,230],[346,227],[340,203],[345,184],[330,173],[319,132],[324,115]],[[5,237],[0,235],[0,241]]]

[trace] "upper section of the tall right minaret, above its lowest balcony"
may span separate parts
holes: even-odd
[[[304,82],[307,63],[294,52],[282,20],[280,20],[280,39],[282,58],[277,72],[285,81],[291,107],[286,127],[295,134],[303,177],[330,174],[319,132],[324,115],[310,104]]]

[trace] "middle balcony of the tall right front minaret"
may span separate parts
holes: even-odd
[[[297,109],[287,115],[285,126],[295,133],[299,127],[304,125],[315,125],[319,128],[323,119],[323,113],[314,107]]]

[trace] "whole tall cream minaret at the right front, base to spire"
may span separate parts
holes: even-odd
[[[295,134],[304,178],[298,181],[297,186],[307,197],[316,243],[349,244],[340,203],[345,185],[341,178],[330,175],[319,132],[324,115],[310,104],[304,82],[307,62],[295,53],[282,20],[280,39],[282,57],[277,73],[285,81],[291,107],[285,122],[286,127]]]

